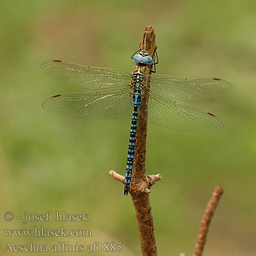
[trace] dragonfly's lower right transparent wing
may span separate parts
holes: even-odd
[[[148,98],[148,121],[179,131],[218,132],[224,127],[214,114],[154,93]]]

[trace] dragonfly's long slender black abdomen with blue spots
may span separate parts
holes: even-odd
[[[130,130],[130,140],[129,140],[129,147],[128,147],[125,180],[124,180],[124,195],[128,195],[128,191],[129,191],[129,187],[132,179],[133,159],[134,159],[134,153],[135,153],[136,133],[137,133],[137,123],[138,123],[138,111],[143,98],[143,96],[141,95],[142,95],[141,91],[138,89],[135,89],[132,95],[133,116],[132,116],[131,130]]]

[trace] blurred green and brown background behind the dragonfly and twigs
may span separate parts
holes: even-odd
[[[220,117],[219,133],[177,132],[148,124],[146,170],[159,255],[194,250],[206,203],[223,187],[204,255],[252,256],[255,248],[255,1],[1,1],[1,227],[91,229],[93,237],[7,238],[13,245],[122,242],[118,255],[140,255],[131,197],[108,175],[124,174],[131,116],[89,121],[41,109],[49,96],[81,91],[40,70],[48,59],[131,72],[145,26],[155,29],[157,73],[219,77],[233,91],[192,103]],[[7,222],[45,214],[49,222]],[[54,221],[55,211],[85,211],[89,222]],[[87,252],[83,252],[87,253]],[[37,255],[81,253],[37,253]],[[108,255],[93,252],[87,255]],[[116,253],[115,253],[116,254]],[[22,255],[34,255],[23,252]]]

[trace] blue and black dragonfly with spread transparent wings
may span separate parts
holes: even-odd
[[[229,82],[220,78],[181,78],[152,74],[155,65],[147,51],[132,56],[132,73],[118,69],[96,68],[62,60],[48,60],[42,71],[52,78],[87,90],[57,94],[42,102],[42,108],[57,115],[91,120],[119,118],[133,111],[124,180],[128,195],[135,156],[138,111],[148,98],[148,121],[168,129],[218,132],[223,122],[214,114],[176,100],[193,101],[218,97],[231,91]],[[147,84],[150,84],[148,86]]]

